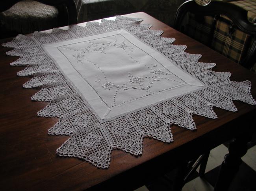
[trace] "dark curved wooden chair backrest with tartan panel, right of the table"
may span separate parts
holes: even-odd
[[[182,23],[186,19],[196,23],[185,29]],[[255,64],[256,24],[249,22],[247,11],[237,5],[212,0],[210,4],[201,6],[189,0],[178,8],[174,28],[187,31],[187,35],[195,36],[200,42],[248,69]],[[194,35],[190,35],[191,31]]]

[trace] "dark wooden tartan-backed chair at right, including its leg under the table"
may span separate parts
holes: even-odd
[[[186,22],[192,20],[193,24],[186,25],[184,20]],[[189,0],[178,8],[174,28],[215,49],[247,69],[250,69],[256,62],[256,24],[249,22],[247,11],[237,5],[212,0],[210,4],[202,6],[194,0]],[[219,36],[221,36],[220,39],[218,39]],[[246,39],[241,39],[241,36]],[[237,55],[239,54],[239,59],[230,54],[232,49],[230,51],[227,50],[227,47],[223,48],[225,49],[223,51],[218,49],[217,44],[223,45],[224,40],[228,40],[231,44],[230,47],[233,48],[232,40],[236,46],[237,39],[240,42],[243,41],[242,49],[235,51]],[[199,165],[199,175],[203,177],[209,155],[210,151],[206,151],[198,158],[181,163],[174,181],[177,182],[174,184],[174,190],[181,190],[182,186],[188,182],[189,176]]]

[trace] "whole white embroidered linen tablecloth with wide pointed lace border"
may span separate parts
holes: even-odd
[[[185,53],[163,31],[142,20],[117,16],[51,34],[18,35],[3,44],[27,65],[23,86],[41,87],[32,100],[49,101],[38,116],[59,117],[49,135],[70,135],[60,156],[108,168],[113,149],[141,155],[146,136],[172,142],[170,126],[196,129],[192,115],[217,118],[212,107],[237,111],[232,100],[255,105],[249,81],[230,81],[214,63]]]

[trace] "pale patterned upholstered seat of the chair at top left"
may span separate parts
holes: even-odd
[[[27,34],[56,26],[58,14],[54,6],[23,0],[0,13],[0,20],[7,31]]]

